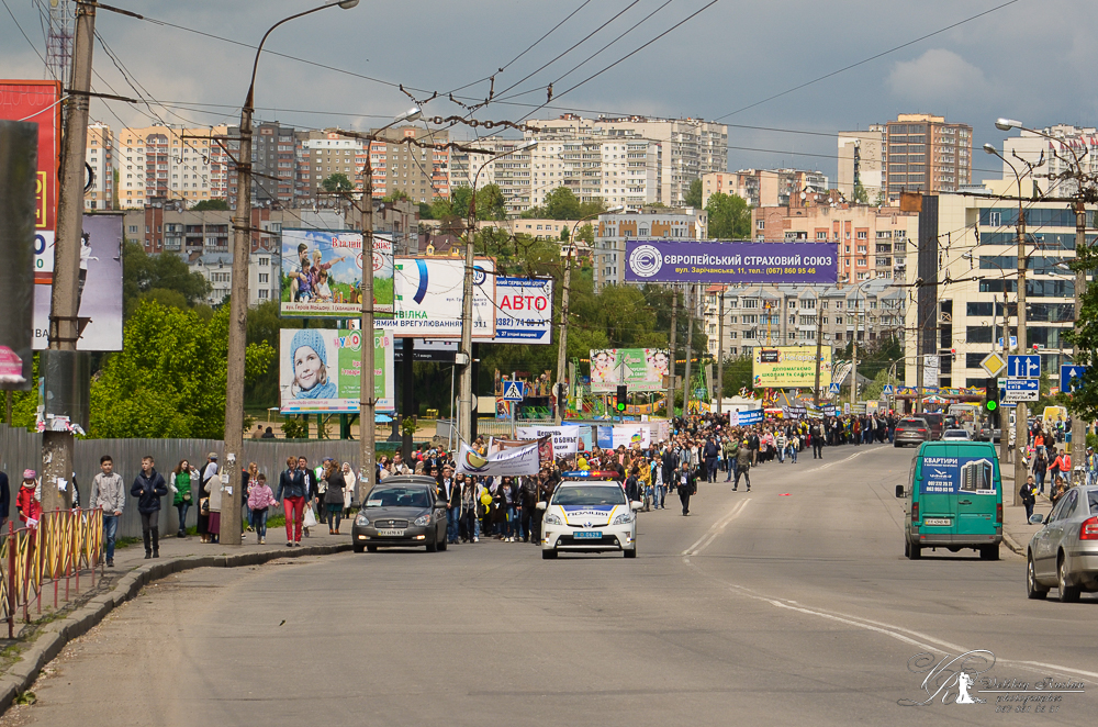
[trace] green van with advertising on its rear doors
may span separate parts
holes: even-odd
[[[923,548],[973,548],[984,560],[999,559],[1002,481],[991,443],[925,441],[896,496],[906,500],[904,555],[911,560]]]

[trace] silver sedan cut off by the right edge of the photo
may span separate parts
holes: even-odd
[[[1079,600],[1083,591],[1098,591],[1098,486],[1072,488],[1047,517],[1033,515],[1043,525],[1030,539],[1026,562],[1026,590],[1043,599],[1050,588],[1060,600]]]

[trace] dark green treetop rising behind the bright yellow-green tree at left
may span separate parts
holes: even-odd
[[[139,243],[126,241],[122,250],[122,310],[126,318],[142,300],[160,305],[192,307],[211,287],[199,272],[191,272],[178,255],[148,255]]]

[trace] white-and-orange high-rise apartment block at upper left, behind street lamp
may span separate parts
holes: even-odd
[[[123,128],[114,156],[119,206],[143,209],[154,200],[181,200],[188,206],[225,199],[227,156],[217,148],[226,126]]]

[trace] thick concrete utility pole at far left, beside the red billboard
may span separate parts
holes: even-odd
[[[61,147],[60,189],[57,204],[57,237],[54,246],[54,288],[49,305],[49,349],[76,351],[80,338],[78,288],[80,237],[83,234],[83,167],[88,146],[88,107],[91,101],[91,58],[96,38],[96,5],[77,3],[76,37],[72,47],[71,88],[65,113]],[[75,356],[61,358],[61,378],[74,378]],[[66,370],[67,369],[67,370]],[[68,376],[66,376],[68,374]],[[40,402],[45,403],[45,402]],[[70,412],[75,414],[76,412]],[[75,470],[75,443],[69,432],[45,432],[42,437],[42,507],[68,510]]]

